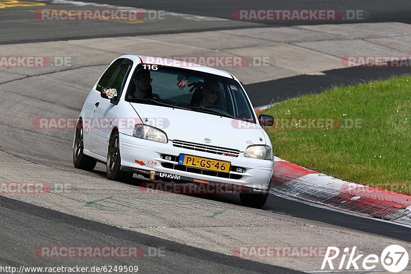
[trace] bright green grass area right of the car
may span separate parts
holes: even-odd
[[[411,193],[411,77],[335,87],[262,113],[276,119],[276,126],[266,127],[276,156],[346,181]],[[290,118],[296,118],[291,127]],[[302,118],[362,124],[297,128],[294,123]]]

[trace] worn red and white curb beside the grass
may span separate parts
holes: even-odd
[[[411,196],[347,182],[275,157],[271,189],[306,200],[391,222],[411,225]]]

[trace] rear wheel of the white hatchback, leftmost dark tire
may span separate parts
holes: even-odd
[[[83,122],[79,120],[74,133],[73,163],[78,169],[92,171],[97,165],[97,160],[83,154]]]

